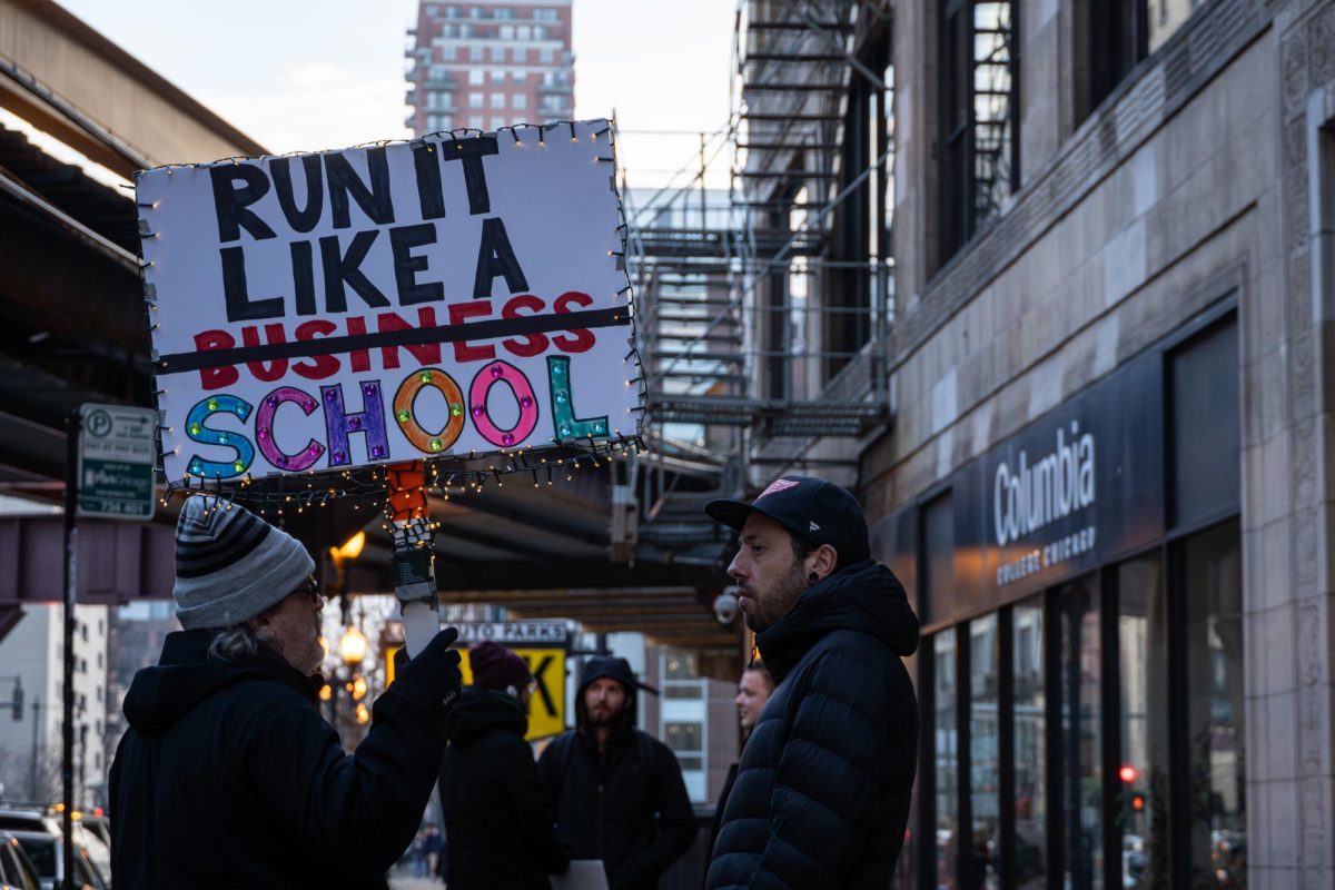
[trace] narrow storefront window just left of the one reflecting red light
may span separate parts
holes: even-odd
[[[1103,770],[1099,599],[1092,580],[1068,584],[1061,611],[1061,735],[1065,886],[1103,887]]]

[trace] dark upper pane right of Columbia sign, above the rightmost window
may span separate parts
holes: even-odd
[[[1173,352],[1173,524],[1239,503],[1238,326],[1228,323]]]

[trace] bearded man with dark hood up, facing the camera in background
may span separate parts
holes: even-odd
[[[602,859],[610,890],[653,890],[696,837],[677,757],[635,729],[641,689],[626,659],[590,658],[575,729],[538,759],[558,835],[573,858]]]

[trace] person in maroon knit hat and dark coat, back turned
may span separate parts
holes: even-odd
[[[533,674],[490,640],[469,650],[473,685],[446,718],[450,747],[441,767],[445,883],[450,890],[549,890],[570,867],[557,841],[529,731]]]

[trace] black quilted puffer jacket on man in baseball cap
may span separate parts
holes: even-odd
[[[742,751],[706,886],[884,890],[904,845],[917,648],[904,588],[870,560],[806,590],[757,636],[778,687]]]

